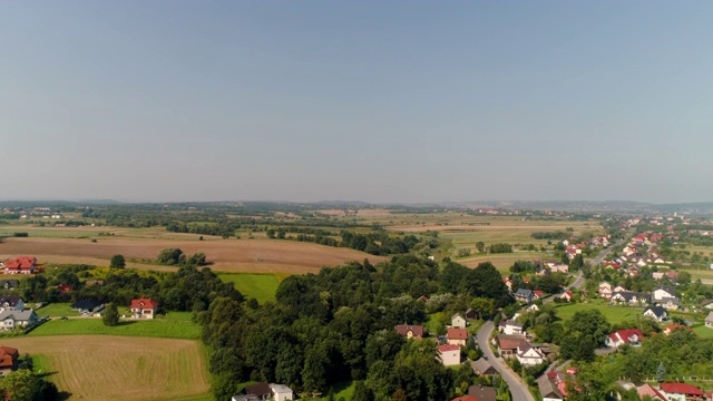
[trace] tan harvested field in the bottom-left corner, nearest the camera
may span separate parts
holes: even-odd
[[[107,335],[4,339],[31,354],[70,400],[209,400],[205,350],[198,341]]]

